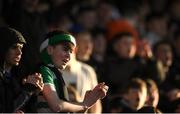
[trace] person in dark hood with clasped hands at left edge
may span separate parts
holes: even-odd
[[[0,37],[0,112],[26,112],[28,100],[36,90],[43,89],[41,74],[23,77],[19,64],[26,41],[20,32],[1,27]]]

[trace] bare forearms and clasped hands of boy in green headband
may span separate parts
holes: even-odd
[[[43,96],[46,98],[50,109],[53,112],[86,112],[100,98],[105,97],[107,86],[98,84],[92,91],[86,92],[82,103],[70,103],[59,99],[53,85],[46,84],[43,89]]]

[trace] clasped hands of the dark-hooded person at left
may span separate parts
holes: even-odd
[[[24,80],[24,83],[33,84],[34,86],[38,88],[39,91],[42,91],[44,87],[43,79],[40,73],[34,73],[32,75],[29,75]]]

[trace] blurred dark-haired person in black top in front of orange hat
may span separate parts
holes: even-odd
[[[119,33],[110,42],[104,63],[104,78],[110,86],[111,94],[128,83],[131,76],[136,75],[140,66],[134,60],[135,39],[130,33]]]

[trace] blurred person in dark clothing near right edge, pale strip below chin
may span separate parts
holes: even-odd
[[[172,45],[168,41],[159,41],[153,47],[153,56],[144,66],[143,79],[153,79],[158,88],[162,88],[173,63]]]

